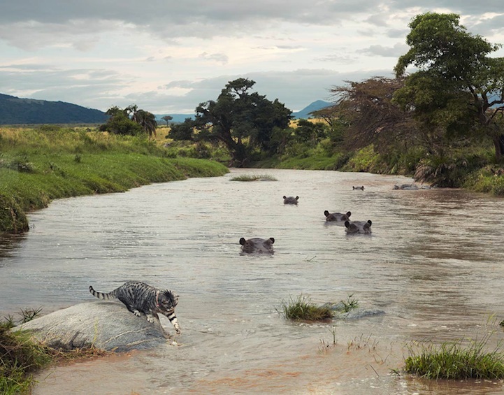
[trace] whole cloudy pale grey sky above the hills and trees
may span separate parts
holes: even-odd
[[[408,23],[429,11],[504,43],[502,0],[0,0],[0,93],[194,113],[250,78],[296,111],[345,80],[392,76]]]

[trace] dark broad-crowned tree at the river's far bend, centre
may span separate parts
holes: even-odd
[[[273,132],[289,127],[291,110],[278,99],[269,101],[250,92],[254,85],[247,78],[230,81],[217,100],[196,107],[192,124],[197,138],[222,143],[231,155],[231,166],[246,166],[254,149],[273,152]],[[189,126],[185,124],[186,129]]]

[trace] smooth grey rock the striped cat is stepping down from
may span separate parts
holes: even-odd
[[[56,349],[72,350],[94,346],[125,352],[167,344],[161,323],[136,317],[120,302],[80,303],[36,318],[13,330],[28,329],[34,338]]]

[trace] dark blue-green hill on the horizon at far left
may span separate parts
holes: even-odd
[[[0,124],[101,124],[106,120],[106,113],[76,104],[0,94]]]

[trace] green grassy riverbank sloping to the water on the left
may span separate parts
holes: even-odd
[[[217,161],[168,155],[143,136],[89,129],[0,128],[0,233],[29,228],[25,213],[52,199],[124,192],[151,182],[224,175]]]

